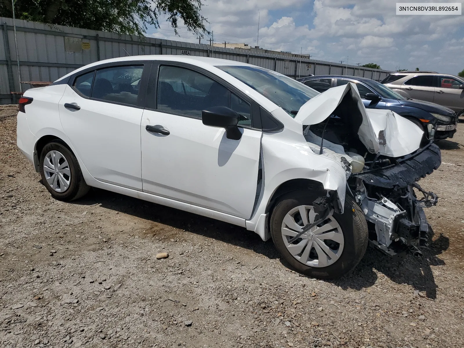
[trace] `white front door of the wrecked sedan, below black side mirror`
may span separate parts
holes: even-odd
[[[251,217],[261,130],[253,128],[255,106],[231,88],[190,65],[153,64],[141,125],[144,192]],[[242,115],[240,140],[202,123],[201,111],[219,105]]]

